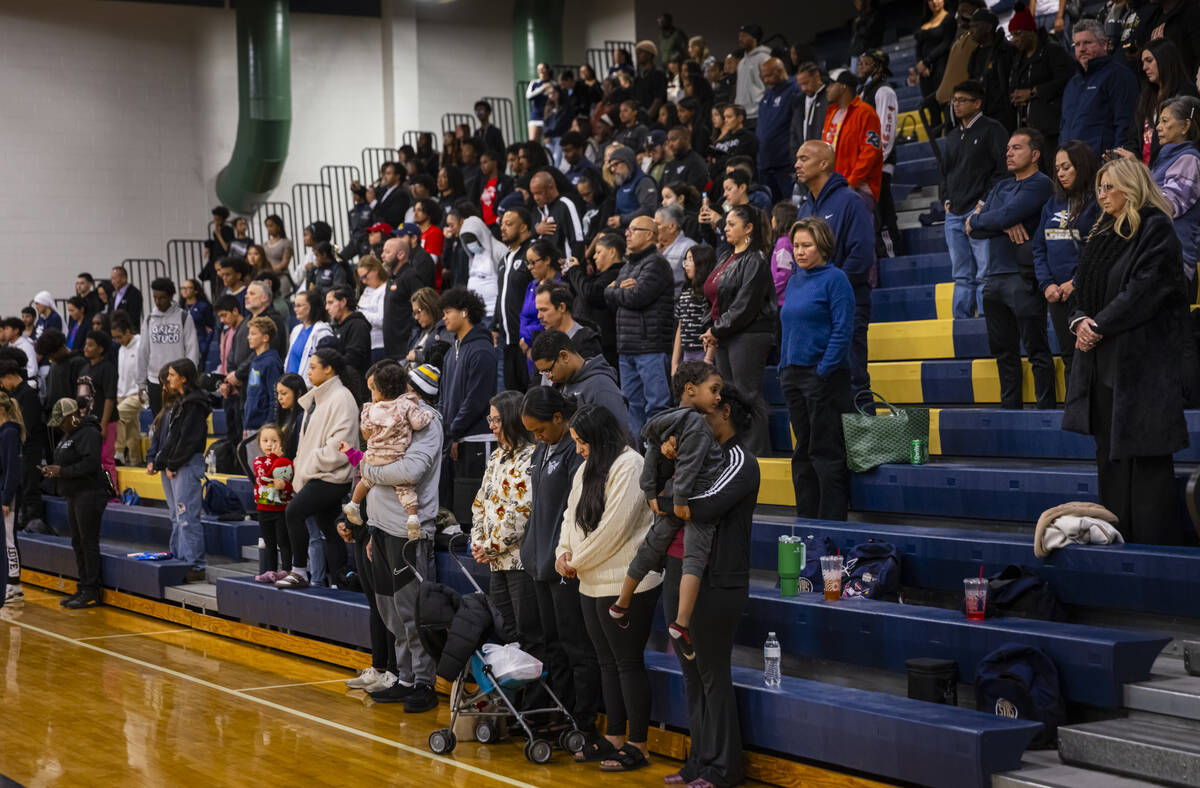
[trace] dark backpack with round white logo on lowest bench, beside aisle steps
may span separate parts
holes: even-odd
[[[976,668],[976,709],[1012,720],[1042,723],[1033,747],[1052,747],[1067,709],[1058,668],[1042,649],[1006,643]]]

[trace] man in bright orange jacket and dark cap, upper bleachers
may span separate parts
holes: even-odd
[[[883,185],[883,140],[875,108],[859,98],[858,77],[842,71],[827,89],[823,139],[835,152],[834,169],[875,211]]]

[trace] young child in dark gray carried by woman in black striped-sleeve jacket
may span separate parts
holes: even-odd
[[[656,517],[629,565],[620,595],[608,608],[608,614],[617,619],[618,626],[629,626],[625,613],[637,584],[666,563],[667,551],[686,523],[688,528],[683,531],[679,609],[667,632],[688,660],[696,656],[688,627],[700,594],[700,578],[704,575],[708,554],[713,549],[713,531],[716,529],[716,523],[700,523],[691,518],[688,499],[712,487],[724,463],[721,447],[704,421],[704,415],[713,413],[721,403],[722,385],[721,375],[713,365],[703,361],[680,363],[671,379],[679,407],[650,419],[642,428],[646,463],[642,467],[641,487]],[[673,461],[667,459],[660,450],[671,439],[676,441]],[[674,517],[659,507],[660,494],[672,499]]]

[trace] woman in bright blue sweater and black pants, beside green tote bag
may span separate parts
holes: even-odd
[[[828,263],[833,230],[821,217],[792,225],[799,271],[787,281],[780,312],[779,384],[796,433],[792,485],[800,517],[846,519],[850,479],[841,414],[850,410],[850,342],[854,288]]]

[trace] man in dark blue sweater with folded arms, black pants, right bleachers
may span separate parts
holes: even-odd
[[[1055,407],[1055,367],[1046,338],[1046,302],[1033,272],[1033,243],[1042,206],[1050,199],[1050,179],[1038,169],[1042,132],[1018,128],[1006,154],[1009,176],[992,186],[983,205],[967,217],[967,235],[986,239],[988,273],[983,285],[983,312],[988,320],[988,348],[996,356],[1000,404],[1020,410],[1021,342],[1033,367],[1033,389],[1039,409]]]

